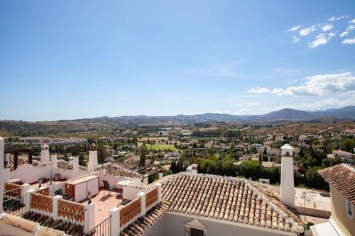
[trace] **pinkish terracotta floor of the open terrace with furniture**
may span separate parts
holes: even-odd
[[[109,217],[109,210],[116,207],[123,201],[122,198],[116,198],[117,193],[121,193],[122,189],[113,189],[111,193],[104,188],[99,189],[97,195],[92,196],[91,201],[95,203],[95,225]],[[80,201],[82,204],[87,204],[89,200]]]

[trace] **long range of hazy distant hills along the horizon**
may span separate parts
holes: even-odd
[[[58,121],[17,121],[0,120],[0,135],[41,135],[43,133],[77,133],[117,128],[131,128],[136,125],[165,125],[171,123],[212,123],[212,122],[250,122],[275,120],[300,120],[332,123],[334,120],[355,120],[355,106],[332,108],[324,111],[299,111],[285,108],[265,115],[235,116],[230,114],[204,113],[198,115],[178,116],[102,116],[77,120]]]

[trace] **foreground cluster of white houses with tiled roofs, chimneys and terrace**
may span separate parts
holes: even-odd
[[[290,145],[281,147],[280,186],[199,174],[197,164],[148,184],[144,179],[159,170],[99,165],[94,145],[88,167],[76,157],[50,157],[47,145],[40,162],[17,154],[4,162],[9,153],[27,151],[4,148],[0,137],[4,235],[355,235],[355,169],[339,164],[320,171],[331,185],[332,214],[309,229],[295,208]]]

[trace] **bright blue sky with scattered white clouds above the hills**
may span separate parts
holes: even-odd
[[[355,1],[0,1],[0,119],[355,105]]]

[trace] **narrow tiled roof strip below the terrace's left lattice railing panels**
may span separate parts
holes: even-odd
[[[24,213],[23,215],[21,215],[21,218],[37,222],[41,226],[49,227],[49,228],[53,228],[63,222],[63,220],[54,220],[48,215],[35,213],[33,211],[28,211]],[[59,225],[55,229],[64,231],[65,234],[72,235],[72,236],[80,236],[83,234],[83,230],[84,230],[81,225],[76,225],[75,223],[72,223],[70,220],[68,220],[67,223]]]

